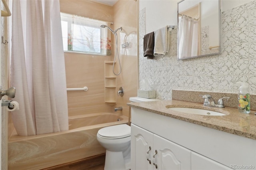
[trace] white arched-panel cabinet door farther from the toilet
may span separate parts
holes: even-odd
[[[190,170],[191,151],[170,140],[154,135],[154,152],[157,150],[153,163],[159,170]],[[155,165],[156,166],[156,165]],[[155,167],[156,168],[156,167]]]

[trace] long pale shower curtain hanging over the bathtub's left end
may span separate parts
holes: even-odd
[[[20,109],[18,135],[68,130],[68,104],[58,0],[13,0],[11,86]]]

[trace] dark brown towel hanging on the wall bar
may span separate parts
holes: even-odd
[[[155,45],[154,32],[146,34],[143,37],[143,49],[144,49],[144,57],[147,57],[147,59],[154,58],[154,45]]]

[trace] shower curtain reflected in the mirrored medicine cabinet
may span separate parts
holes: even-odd
[[[198,20],[185,15],[182,15],[179,20],[179,58],[198,55]]]

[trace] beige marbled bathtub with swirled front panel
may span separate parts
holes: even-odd
[[[38,170],[103,154],[98,130],[125,123],[124,115],[94,113],[69,117],[69,130],[64,132],[18,136],[9,127],[13,130],[8,138],[8,170]]]

